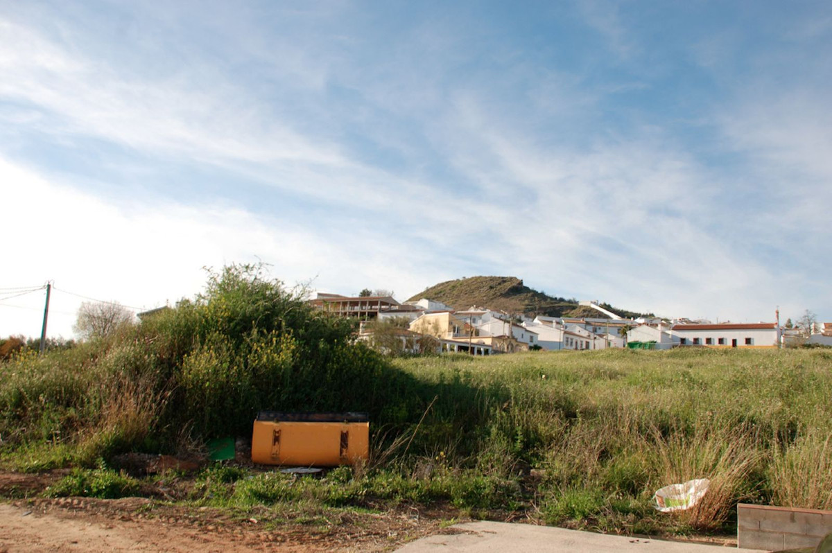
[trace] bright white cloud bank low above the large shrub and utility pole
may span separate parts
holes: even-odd
[[[346,293],[369,286],[410,295],[443,274],[430,265],[435,249],[429,242],[405,246],[364,222],[350,227],[333,216],[334,228],[302,226],[211,200],[113,202],[56,180],[0,158],[0,181],[8,185],[4,201],[37,205],[37,220],[47,223],[33,224],[29,210],[11,210],[0,223],[4,235],[26,229],[32,247],[20,249],[15,259],[22,284],[53,279],[58,289],[151,308],[192,297],[205,282],[203,267],[229,263],[262,260],[286,284]],[[43,244],[49,244],[46,250]],[[42,299],[33,294],[11,303],[23,301],[26,311],[0,305],[0,335],[37,334]],[[81,301],[56,294],[53,333],[71,335]]]

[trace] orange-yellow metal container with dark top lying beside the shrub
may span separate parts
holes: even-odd
[[[366,413],[263,411],[255,419],[251,461],[263,465],[334,467],[369,457]]]

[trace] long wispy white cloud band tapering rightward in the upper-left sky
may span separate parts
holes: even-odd
[[[72,44],[0,22],[0,96],[37,106],[58,129],[210,162],[299,160],[339,165],[334,144],[310,143],[245,88],[210,67],[155,81],[86,59]]]

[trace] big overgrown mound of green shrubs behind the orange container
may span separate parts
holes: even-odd
[[[245,435],[256,412],[368,411],[404,420],[411,378],[353,340],[354,324],[305,302],[258,265],[210,273],[206,290],[141,324],[0,366],[7,447],[77,445],[91,463],[181,437]],[[395,404],[395,409],[389,408]]]

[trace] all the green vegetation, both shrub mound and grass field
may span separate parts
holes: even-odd
[[[442,503],[604,531],[726,531],[737,501],[832,508],[832,353],[608,350],[382,358],[256,267],[111,337],[0,365],[7,467],[77,467],[52,495],[141,493],[120,452],[250,435],[260,409],[367,411],[372,458],[323,479],[208,467],[199,505]],[[180,451],[181,452],[181,451]],[[706,477],[690,511],[661,486]],[[122,486],[123,485],[123,486]],[[508,515],[507,512],[513,513]]]

